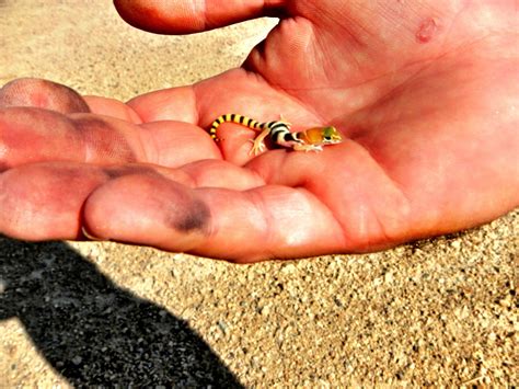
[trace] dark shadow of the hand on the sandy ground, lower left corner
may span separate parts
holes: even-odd
[[[62,242],[0,236],[0,320],[19,318],[73,386],[242,387],[185,321],[118,288]]]

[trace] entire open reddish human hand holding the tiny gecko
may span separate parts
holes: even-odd
[[[518,206],[514,1],[176,3],[116,1],[126,20],[163,33],[284,16],[243,68],[128,105],[8,84],[2,233],[82,239],[84,228],[251,262],[380,250]],[[252,158],[250,129],[222,125],[221,150],[205,130],[228,112],[332,124],[347,140]]]

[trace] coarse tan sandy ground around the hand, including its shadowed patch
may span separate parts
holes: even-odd
[[[107,0],[7,0],[0,15],[0,83],[42,77],[122,100],[234,67],[275,23],[155,36]],[[250,266],[0,238],[0,387],[519,385],[518,216]]]

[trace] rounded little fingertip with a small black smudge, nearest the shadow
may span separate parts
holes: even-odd
[[[159,174],[114,179],[93,192],[83,208],[88,234],[169,251],[197,247],[209,219],[193,191]]]

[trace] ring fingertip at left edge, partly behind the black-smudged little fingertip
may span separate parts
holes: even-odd
[[[81,236],[80,209],[106,180],[96,168],[35,163],[0,174],[0,232],[41,241]]]

